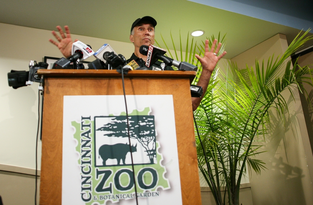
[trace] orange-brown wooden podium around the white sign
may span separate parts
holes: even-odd
[[[44,76],[40,204],[62,202],[63,96],[123,95],[116,70],[38,70]],[[190,83],[193,71],[129,71],[126,95],[172,95],[182,203],[201,204]]]

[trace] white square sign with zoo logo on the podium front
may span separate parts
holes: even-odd
[[[64,96],[62,204],[182,204],[172,95]],[[131,165],[133,157],[135,181]]]

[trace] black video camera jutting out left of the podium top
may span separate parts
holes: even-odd
[[[11,72],[8,73],[9,86],[17,89],[23,86],[31,85],[33,82],[43,83],[42,79],[38,77],[37,70],[47,68],[48,63],[30,61],[29,71],[11,70]]]

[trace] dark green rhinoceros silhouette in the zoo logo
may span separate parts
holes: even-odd
[[[137,152],[136,146],[131,146],[131,152]],[[117,159],[117,164],[120,165],[121,160],[125,164],[126,154],[130,152],[129,144],[104,144],[99,148],[99,158],[103,159],[103,166],[106,166],[107,159]]]

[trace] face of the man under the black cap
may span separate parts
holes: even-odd
[[[134,27],[134,35],[130,35],[135,47],[154,44],[154,27],[149,22],[143,22]]]

